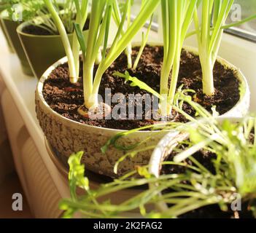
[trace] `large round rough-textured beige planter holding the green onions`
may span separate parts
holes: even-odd
[[[192,48],[189,48],[188,50],[195,52],[195,49]],[[249,87],[247,80],[244,78],[243,74],[241,74],[241,71],[230,63],[221,58],[219,58],[218,61],[229,68],[235,69],[237,78],[241,82],[241,99],[236,106],[224,116],[244,116],[247,114],[249,108]],[[62,162],[65,163],[70,154],[74,151],[85,151],[82,162],[85,163],[88,170],[115,177],[117,175],[113,172],[113,167],[115,166],[115,162],[124,155],[124,152],[109,148],[106,154],[102,154],[101,146],[104,146],[106,141],[112,136],[124,131],[93,127],[66,119],[53,111],[44,100],[42,95],[44,81],[57,66],[66,62],[67,58],[63,58],[53,64],[53,66],[50,66],[39,80],[36,88],[36,114],[42,130],[44,131],[44,135],[50,145],[59,151]],[[147,144],[145,143],[144,145],[141,145],[141,147],[150,146],[152,143],[154,143],[154,145],[157,144],[160,138],[165,134],[165,132],[137,132],[129,135],[128,138],[121,138],[120,143],[131,145],[133,143],[138,143],[151,135],[151,140],[147,141]],[[125,161],[120,164],[118,176],[133,170],[136,165],[147,165],[150,161],[151,152],[152,151],[145,151],[138,154],[133,159],[125,159]]]

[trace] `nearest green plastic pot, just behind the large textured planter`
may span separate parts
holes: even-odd
[[[66,52],[59,35],[39,36],[24,33],[23,28],[30,24],[29,21],[21,23],[17,32],[31,69],[34,75],[40,79],[49,66],[66,56]],[[86,38],[88,31],[84,31],[84,34]],[[72,42],[73,34],[68,36],[69,41]]]

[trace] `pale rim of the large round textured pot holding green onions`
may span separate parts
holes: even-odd
[[[152,46],[163,46],[162,42],[150,42],[150,44]],[[140,42],[134,42],[133,43],[133,47],[134,46],[140,46],[140,45],[141,45]],[[198,49],[195,48],[195,47],[184,46],[183,48],[185,50],[188,50],[189,52],[193,52],[195,55],[198,54]],[[240,85],[239,85],[240,99],[238,100],[238,103],[236,103],[236,105],[233,108],[230,109],[230,111],[228,111],[227,113],[219,116],[219,117],[225,117],[225,116],[229,116],[234,111],[234,109],[241,108],[241,106],[244,106],[244,101],[247,101],[247,99],[249,99],[249,95],[250,95],[249,85],[248,85],[247,79],[245,78],[244,74],[241,73],[240,69],[236,68],[236,66],[229,63],[227,60],[225,60],[223,58],[217,57],[217,61],[219,63],[221,63],[223,66],[226,66],[226,67],[231,68],[234,71],[236,71],[236,78],[240,81]],[[44,104],[44,107],[47,108],[47,110],[50,111],[50,113],[53,114],[54,116],[57,116],[58,118],[60,118],[64,122],[67,122],[67,123],[69,122],[71,124],[74,124],[74,125],[76,125],[76,127],[80,127],[80,128],[82,127],[84,129],[90,127],[90,128],[94,128],[94,129],[98,129],[98,130],[104,130],[105,132],[109,132],[109,133],[124,133],[124,132],[127,132],[128,130],[117,130],[117,129],[112,129],[112,128],[104,128],[104,127],[82,124],[80,122],[76,122],[74,120],[67,119],[66,117],[61,116],[56,111],[54,111],[52,108],[50,108],[50,106],[44,100],[44,97],[42,95],[44,81],[48,78],[48,76],[51,74],[51,72],[56,67],[62,65],[63,63],[66,63],[66,62],[67,62],[67,57],[61,58],[56,63],[54,63],[52,66],[47,68],[47,70],[44,72],[42,77],[39,79],[39,82],[36,86],[36,95],[39,98],[39,100]],[[136,133],[143,134],[145,132],[147,132],[147,131],[138,131]]]

